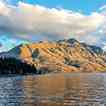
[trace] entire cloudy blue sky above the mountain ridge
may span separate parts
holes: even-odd
[[[0,0],[0,52],[68,38],[106,50],[106,0]]]

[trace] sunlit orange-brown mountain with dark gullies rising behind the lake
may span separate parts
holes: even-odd
[[[42,72],[106,72],[106,53],[75,39],[19,45],[1,57],[13,57]]]

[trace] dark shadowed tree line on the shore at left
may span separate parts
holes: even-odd
[[[34,65],[12,57],[0,57],[0,74],[37,74]]]

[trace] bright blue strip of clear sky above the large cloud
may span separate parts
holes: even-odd
[[[8,0],[11,4],[17,4],[19,1],[39,4],[49,8],[64,8],[73,11],[81,11],[85,14],[98,11],[101,6],[106,4],[106,0]]]

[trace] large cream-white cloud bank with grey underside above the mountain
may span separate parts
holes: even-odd
[[[49,39],[67,38],[71,35],[83,38],[83,35],[92,35],[98,28],[102,28],[104,20],[105,15],[96,12],[87,16],[70,10],[50,9],[22,2],[17,6],[0,2],[0,32],[26,35],[26,39],[36,35]]]

